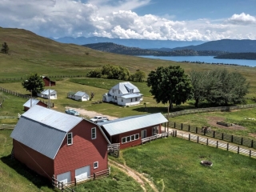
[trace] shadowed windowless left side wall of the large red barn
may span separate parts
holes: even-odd
[[[24,163],[31,170],[51,179],[54,174],[54,160],[38,153],[22,143],[13,140],[14,158]]]

